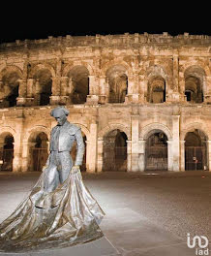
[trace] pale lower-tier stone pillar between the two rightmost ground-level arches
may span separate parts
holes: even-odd
[[[173,146],[171,148],[173,154],[172,171],[179,172],[180,160],[180,144],[179,144],[179,119],[180,115],[172,115],[172,132],[173,132]]]

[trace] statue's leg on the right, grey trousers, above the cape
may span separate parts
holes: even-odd
[[[69,151],[59,152],[61,170],[59,170],[59,180],[63,183],[69,176],[73,167],[73,160]]]

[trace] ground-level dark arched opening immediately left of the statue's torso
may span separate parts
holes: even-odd
[[[48,139],[46,134],[44,132],[33,134],[29,139],[29,145],[29,171],[41,172],[48,157]]]

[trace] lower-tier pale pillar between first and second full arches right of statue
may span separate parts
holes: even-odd
[[[138,130],[139,121],[138,115],[131,116],[131,130],[132,130],[132,172],[139,171],[138,158],[139,158],[139,147],[138,147]]]

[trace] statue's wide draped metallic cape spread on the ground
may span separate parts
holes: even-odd
[[[0,251],[25,252],[71,246],[104,236],[105,212],[78,171],[53,192],[44,192],[45,170],[30,195],[0,224]]]

